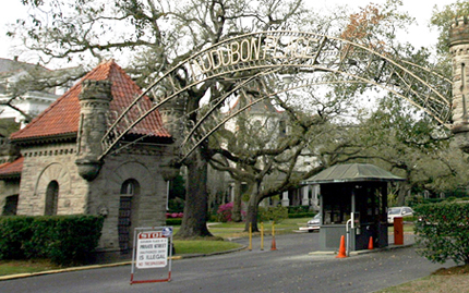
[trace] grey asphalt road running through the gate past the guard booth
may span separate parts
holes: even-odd
[[[170,282],[131,285],[131,267],[120,266],[1,281],[0,292],[374,292],[454,266],[432,264],[413,247],[348,258],[310,254],[317,251],[317,233],[275,240],[276,251],[268,236],[264,251],[254,239],[251,252],[173,260]],[[167,276],[167,269],[137,270],[134,280]]]

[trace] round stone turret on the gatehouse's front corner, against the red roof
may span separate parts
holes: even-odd
[[[83,81],[79,99],[80,126],[75,163],[80,175],[93,181],[103,166],[98,158],[103,154],[101,138],[107,131],[106,115],[112,100],[111,82]]]

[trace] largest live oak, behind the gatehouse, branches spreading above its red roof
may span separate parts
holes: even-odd
[[[254,30],[278,28],[287,21],[301,22],[301,0],[22,0],[29,7],[9,35],[23,38],[40,60],[95,63],[115,58],[128,61],[128,72],[145,87],[194,52],[225,38]],[[177,81],[188,83],[183,76]],[[188,120],[197,121],[201,100],[216,99],[232,86],[208,81],[188,90]],[[207,220],[206,145],[187,161],[184,218],[178,236],[211,235]]]

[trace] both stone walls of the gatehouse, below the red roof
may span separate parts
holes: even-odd
[[[165,225],[167,185],[160,174],[160,164],[170,158],[165,147],[109,155],[93,181],[80,176],[75,147],[75,144],[51,144],[23,148],[25,159],[17,215],[43,216],[47,186],[57,181],[57,215],[105,216],[99,248],[118,251],[121,188],[131,179],[140,186],[132,199],[131,235],[136,227]]]

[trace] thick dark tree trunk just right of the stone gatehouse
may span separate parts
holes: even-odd
[[[181,229],[175,235],[178,239],[213,236],[207,229],[207,162],[201,158],[199,151],[197,149],[187,164],[184,216]]]

